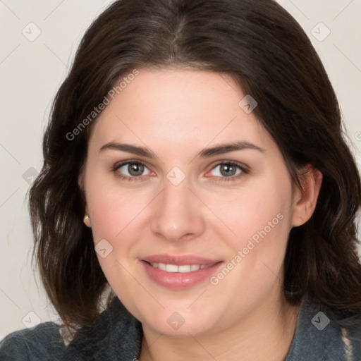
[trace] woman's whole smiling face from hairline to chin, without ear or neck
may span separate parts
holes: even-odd
[[[140,69],[92,129],[81,182],[97,257],[159,333],[217,332],[281,297],[294,195],[244,97],[225,75]]]

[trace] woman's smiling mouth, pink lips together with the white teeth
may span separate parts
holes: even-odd
[[[154,255],[139,259],[147,278],[153,283],[173,290],[184,290],[209,282],[223,261],[195,256]]]

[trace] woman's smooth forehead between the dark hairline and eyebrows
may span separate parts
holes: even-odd
[[[90,142],[132,142],[206,147],[271,139],[253,112],[239,105],[246,94],[229,75],[193,69],[140,69],[116,94],[94,125]]]

